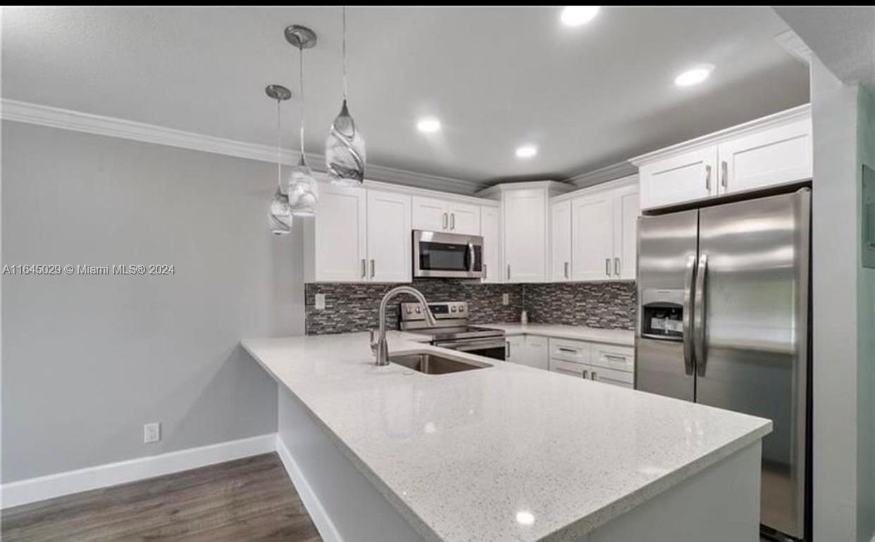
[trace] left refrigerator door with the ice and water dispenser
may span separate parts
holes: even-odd
[[[697,210],[638,222],[635,388],[690,401],[696,385],[689,324],[697,228]]]

